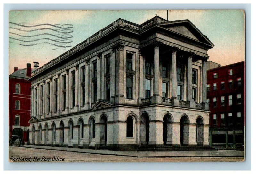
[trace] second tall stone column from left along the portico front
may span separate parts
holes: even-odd
[[[172,48],[172,104],[177,106],[179,105],[179,101],[177,99],[177,56],[178,48]]]

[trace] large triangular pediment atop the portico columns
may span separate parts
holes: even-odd
[[[203,42],[207,45],[214,46],[214,44],[205,36],[199,29],[196,28],[192,22],[189,20],[178,20],[171,22],[164,22],[158,24],[160,27],[171,30],[174,33],[180,34],[182,36],[191,38],[193,40]]]

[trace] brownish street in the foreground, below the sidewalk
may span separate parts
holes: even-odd
[[[189,153],[190,151],[186,152]],[[132,157],[119,155],[92,154],[63,150],[9,147],[10,162],[237,162],[244,157]],[[134,152],[136,153],[136,152]],[[141,152],[140,152],[141,153]],[[143,152],[142,152],[143,153]],[[147,152],[148,153],[148,152]],[[182,152],[176,152],[182,153]],[[122,154],[122,152],[120,152]],[[11,160],[10,160],[11,159]],[[23,159],[23,161],[22,161]],[[28,160],[29,161],[25,161]]]

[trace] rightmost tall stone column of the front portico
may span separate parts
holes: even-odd
[[[207,76],[206,76],[206,61],[207,61],[207,58],[204,57],[202,59],[202,63],[203,63],[203,66],[202,66],[202,101],[203,101],[203,105],[204,105],[204,109],[205,110],[209,110],[209,107],[207,105],[207,97],[206,97],[206,83],[207,83]]]

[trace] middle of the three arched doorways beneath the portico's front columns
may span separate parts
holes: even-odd
[[[189,127],[188,117],[182,116],[180,119],[180,145],[188,145]]]

